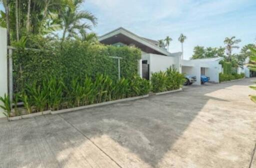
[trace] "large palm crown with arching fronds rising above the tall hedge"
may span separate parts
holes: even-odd
[[[77,11],[78,6],[81,3],[82,0],[72,0],[73,7],[67,6],[65,10],[60,13],[63,27],[62,41],[65,39],[66,33],[72,34],[80,29],[91,29],[90,24],[81,24],[81,19],[89,20],[94,26],[97,24],[97,19],[93,14],[87,11]]]

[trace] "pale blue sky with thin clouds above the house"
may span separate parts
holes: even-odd
[[[196,45],[219,47],[225,37],[236,36],[243,46],[256,38],[256,0],[85,0],[80,8],[98,18],[98,35],[120,26],[156,40],[168,35],[170,52],[177,52],[183,33],[185,59]]]

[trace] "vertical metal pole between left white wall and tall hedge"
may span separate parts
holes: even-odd
[[[13,98],[13,82],[12,82],[12,49],[8,49],[8,88],[9,88],[9,101],[10,107],[12,108]]]

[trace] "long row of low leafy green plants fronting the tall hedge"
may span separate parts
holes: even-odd
[[[45,110],[85,106],[127,97],[146,95],[150,91],[149,81],[133,75],[129,79],[112,80],[97,74],[91,77],[74,78],[64,84],[62,78],[50,76],[42,84],[26,85],[21,99],[28,114]],[[8,97],[4,98],[8,102]],[[2,107],[3,108],[3,107]],[[8,116],[10,116],[10,111]]]

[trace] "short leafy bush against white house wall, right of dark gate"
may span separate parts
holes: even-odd
[[[184,75],[175,69],[168,68],[166,72],[155,72],[151,76],[152,92],[165,92],[176,90],[182,87],[184,83]]]

